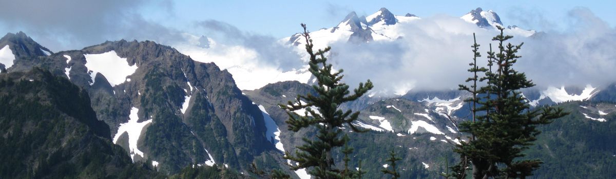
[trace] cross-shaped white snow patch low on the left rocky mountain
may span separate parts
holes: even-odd
[[[144,153],[137,149],[137,141],[139,140],[139,135],[141,135],[141,131],[143,131],[144,126],[149,123],[152,123],[151,118],[150,120],[138,123],[137,121],[139,121],[139,116],[137,116],[137,113],[139,113],[139,109],[137,109],[136,107],[132,107],[131,114],[129,115],[130,120],[128,120],[128,122],[126,123],[120,124],[120,128],[118,128],[118,133],[116,133],[116,135],[113,137],[113,143],[117,143],[118,139],[120,139],[120,135],[124,134],[124,132],[128,134],[128,146],[129,150],[131,151],[131,159],[133,162],[135,161],[135,154],[144,157]]]

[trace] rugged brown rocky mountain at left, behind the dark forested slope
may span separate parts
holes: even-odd
[[[21,37],[17,44],[28,42],[22,42],[30,39],[26,37]],[[34,42],[30,46],[36,45]],[[88,68],[88,63],[94,62],[87,55],[110,51],[128,66],[136,67],[124,82],[112,79],[117,78],[113,70],[97,73]],[[252,162],[284,163],[282,155],[265,139],[260,110],[241,94],[232,75],[213,63],[193,61],[174,48],[152,41],[105,42],[49,56],[38,52],[23,55],[8,72],[25,72],[33,67],[69,78],[87,91],[91,107],[96,117],[107,124],[111,139],[118,135],[115,142],[123,143],[134,161],[156,161],[163,173],[177,173],[191,164],[213,162],[243,172]],[[119,69],[120,66],[117,72]],[[137,109],[136,113],[131,109]],[[126,145],[130,136],[117,134],[118,129],[134,117],[138,118],[137,123],[151,122],[140,129],[136,144]],[[136,145],[143,154],[129,148],[130,145]]]

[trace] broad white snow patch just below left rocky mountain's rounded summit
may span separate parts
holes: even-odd
[[[92,70],[90,74],[92,84],[94,84],[96,74],[100,73],[107,78],[111,86],[120,85],[126,81],[126,77],[137,70],[136,64],[129,65],[126,58],[121,58],[113,50],[100,54],[84,54],[84,56],[87,69]]]

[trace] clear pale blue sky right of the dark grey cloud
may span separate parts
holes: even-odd
[[[610,26],[616,24],[613,1],[175,1],[174,15],[161,9],[145,8],[144,17],[169,26],[190,29],[191,21],[218,20],[248,32],[275,37],[298,32],[299,23],[312,29],[335,26],[347,13],[370,15],[381,7],[392,13],[413,13],[419,17],[450,15],[460,17],[472,9],[492,9],[505,25],[519,25],[540,31],[564,31],[567,12],[586,7]]]

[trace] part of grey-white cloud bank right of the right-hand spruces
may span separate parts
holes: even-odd
[[[616,29],[588,9],[573,9],[568,15],[569,31],[525,39],[522,70],[539,85],[605,86],[616,82]]]

